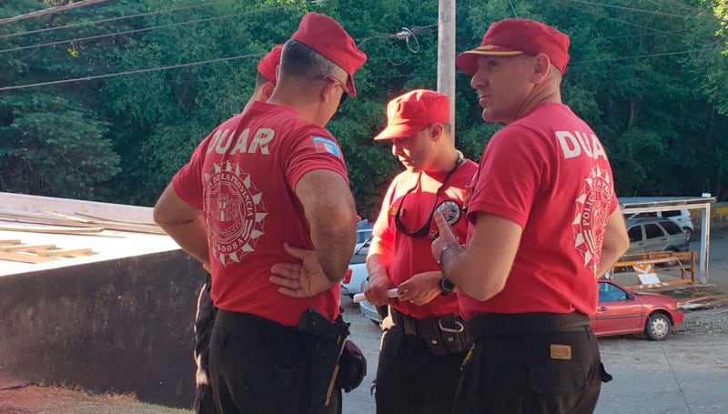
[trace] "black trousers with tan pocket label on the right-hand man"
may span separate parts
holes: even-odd
[[[571,317],[557,316],[557,323],[551,323],[550,314],[529,315],[509,316],[480,328],[468,321],[475,347],[453,414],[594,411],[602,379],[609,374],[603,370],[589,318],[581,315],[581,325],[574,325]],[[562,323],[563,319],[570,320]]]

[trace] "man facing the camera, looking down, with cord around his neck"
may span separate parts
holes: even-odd
[[[450,414],[466,339],[452,286],[430,256],[433,213],[442,214],[465,241],[466,186],[478,165],[465,160],[450,135],[450,99],[417,89],[387,106],[390,140],[406,168],[389,185],[372,231],[365,295],[389,305],[382,321],[377,369],[377,413]],[[447,280],[445,280],[447,281]],[[399,299],[389,299],[396,288]]]

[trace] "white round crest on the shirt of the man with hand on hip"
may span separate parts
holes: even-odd
[[[207,232],[213,256],[227,265],[255,250],[268,211],[262,193],[238,164],[226,161],[213,167],[211,174],[205,174]]]

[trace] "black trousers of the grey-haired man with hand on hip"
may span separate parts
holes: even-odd
[[[328,406],[310,402],[311,354],[317,340],[298,328],[218,310],[209,368],[219,412],[339,414],[341,389],[334,389]]]

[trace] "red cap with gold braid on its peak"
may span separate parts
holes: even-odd
[[[480,46],[458,55],[458,67],[470,75],[478,71],[478,56],[536,56],[546,54],[561,74],[569,63],[569,36],[550,25],[529,19],[495,22],[483,35]]]

